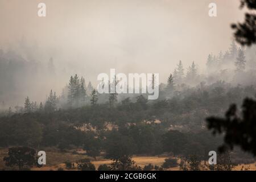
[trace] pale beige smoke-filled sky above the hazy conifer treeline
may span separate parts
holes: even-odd
[[[45,18],[37,14],[40,2]],[[208,15],[211,2],[216,18]],[[23,40],[35,60],[53,57],[59,70],[94,84],[110,68],[160,73],[166,82],[179,60],[185,68],[195,61],[203,72],[209,53],[228,49],[230,24],[243,19],[239,6],[234,0],[0,0],[0,48],[18,49]]]

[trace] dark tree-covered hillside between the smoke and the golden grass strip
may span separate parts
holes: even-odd
[[[92,96],[95,93],[93,90]],[[90,105],[73,109],[47,106],[2,117],[0,146],[55,146],[60,150],[82,147],[90,156],[97,158],[105,152],[110,159],[171,152],[175,156],[198,155],[198,159],[206,160],[207,151],[217,150],[222,138],[207,131],[205,118],[224,115],[231,102],[241,105],[244,97],[253,98],[255,93],[254,86],[233,87],[220,81],[195,88],[184,86],[179,91],[166,86],[160,94],[172,97],[164,100],[148,101],[139,95],[135,101],[125,98],[115,106],[93,100]],[[52,91],[50,101],[49,105],[55,105]]]

